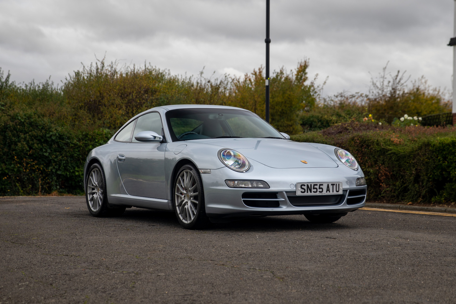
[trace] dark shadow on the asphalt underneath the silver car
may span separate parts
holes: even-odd
[[[134,222],[135,224],[145,223],[148,225],[164,225],[179,227],[176,215],[173,212],[147,210],[140,208],[127,209],[124,215],[117,217],[123,221]],[[328,231],[334,229],[353,229],[355,225],[350,225],[344,221],[344,217],[335,223],[316,224],[306,220],[304,215],[275,215],[266,217],[249,217],[234,220],[229,223],[214,223],[207,226],[204,231],[295,231],[312,230]]]

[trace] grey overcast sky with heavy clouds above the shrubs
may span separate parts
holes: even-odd
[[[310,59],[323,94],[407,70],[451,89],[454,1],[271,0],[271,71]],[[265,0],[0,0],[0,67],[55,83],[95,56],[173,74],[243,75],[265,62]]]

